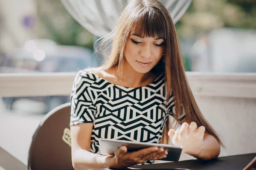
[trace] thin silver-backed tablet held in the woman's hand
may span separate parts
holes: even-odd
[[[156,144],[156,143],[146,143],[146,142],[132,142],[125,140],[115,140],[115,139],[99,139],[99,148],[102,155],[114,155],[115,151],[125,145],[128,152],[137,151],[147,147],[163,147],[168,151],[166,158],[160,159],[162,161],[179,161],[180,154],[182,152],[181,146],[174,146],[170,144]]]

